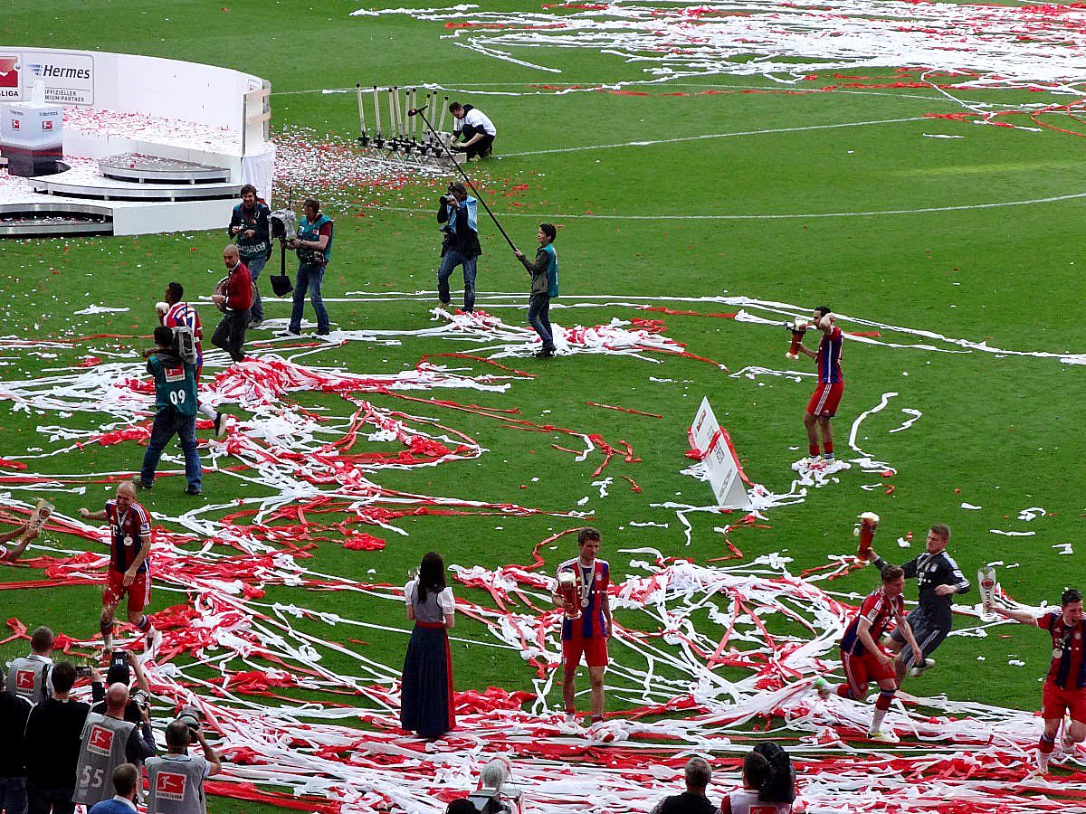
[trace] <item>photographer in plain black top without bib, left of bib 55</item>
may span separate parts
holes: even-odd
[[[90,681],[101,686],[102,676],[88,670]],[[59,662],[50,676],[53,697],[30,711],[26,722],[27,814],[72,814],[75,803],[75,767],[79,761],[79,736],[90,707],[70,697],[76,667]]]

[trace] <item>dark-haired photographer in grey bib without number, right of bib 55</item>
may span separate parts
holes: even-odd
[[[199,743],[203,755],[189,754],[189,745]],[[166,754],[147,762],[150,796],[148,814],[207,814],[203,781],[223,767],[207,745],[194,708],[181,711],[166,727]]]

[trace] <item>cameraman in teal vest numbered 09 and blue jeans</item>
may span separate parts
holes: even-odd
[[[154,484],[154,470],[162,450],[174,435],[181,440],[185,451],[185,493],[199,495],[202,486],[200,456],[197,453],[197,370],[174,348],[174,332],[165,326],[154,329],[156,348],[149,352],[147,371],[154,377],[154,424],[151,440],[143,454],[137,485],[149,489]]]

